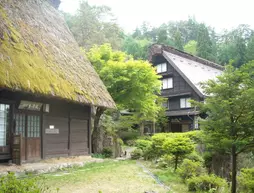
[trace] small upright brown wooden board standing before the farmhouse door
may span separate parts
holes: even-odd
[[[12,144],[12,163],[21,165],[21,153],[22,153],[22,136],[14,135]]]

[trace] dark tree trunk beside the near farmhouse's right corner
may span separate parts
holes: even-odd
[[[103,131],[99,126],[101,115],[106,109],[97,107],[94,117],[94,128],[92,134],[92,149],[93,153],[101,153],[103,149]]]

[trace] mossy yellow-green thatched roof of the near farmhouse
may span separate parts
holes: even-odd
[[[114,108],[63,17],[48,2],[0,1],[0,89]]]

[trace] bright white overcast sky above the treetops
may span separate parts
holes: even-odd
[[[79,0],[61,1],[61,10],[75,13]],[[216,31],[239,24],[254,27],[254,0],[88,0],[88,3],[111,7],[126,32],[132,32],[143,21],[159,26],[170,20],[186,20],[189,16],[215,27]]]

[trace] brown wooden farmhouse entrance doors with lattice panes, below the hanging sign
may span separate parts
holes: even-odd
[[[39,114],[15,114],[16,134],[22,134],[22,160],[41,159],[41,121]]]

